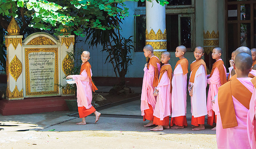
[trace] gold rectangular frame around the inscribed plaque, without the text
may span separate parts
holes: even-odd
[[[29,60],[28,55],[31,52],[54,52],[55,53],[55,73],[54,73],[54,91],[30,92],[29,78]],[[42,95],[59,93],[58,86],[58,48],[25,48],[25,77],[26,77],[26,95]]]

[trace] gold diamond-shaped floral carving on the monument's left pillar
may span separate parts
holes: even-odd
[[[14,56],[13,60],[10,62],[9,72],[13,76],[15,81],[17,81],[18,77],[21,75],[22,64],[16,55]]]

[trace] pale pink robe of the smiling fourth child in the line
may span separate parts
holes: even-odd
[[[192,72],[190,73],[190,77]],[[189,77],[189,80],[190,80],[190,77]],[[203,64],[201,64],[196,71],[194,83],[188,82],[188,84],[191,84],[191,86],[193,86],[193,96],[190,97],[192,116],[194,116],[194,118],[197,118],[200,116],[207,115],[207,107],[206,107],[207,75],[205,72],[205,66]]]

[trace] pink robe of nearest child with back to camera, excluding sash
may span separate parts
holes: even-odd
[[[237,78],[249,91],[253,91],[253,84],[250,81],[252,78]],[[248,109],[244,107],[237,99],[232,96],[235,116],[238,126],[223,129],[221,123],[220,110],[218,106],[218,94],[215,98],[215,106],[213,111],[217,115],[216,124],[216,139],[218,149],[250,149],[249,139],[247,135],[247,112]]]

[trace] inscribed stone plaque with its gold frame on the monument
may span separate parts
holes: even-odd
[[[58,48],[25,48],[26,95],[58,93]]]

